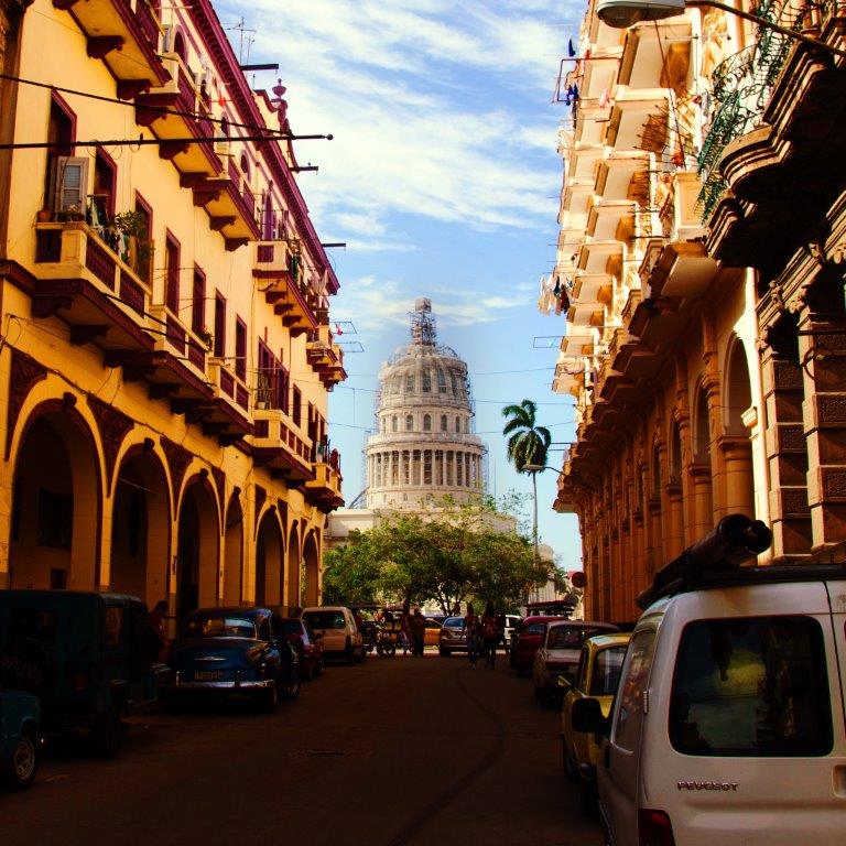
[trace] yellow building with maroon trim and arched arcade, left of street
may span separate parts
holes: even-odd
[[[0,586],[316,604],[346,375],[284,88],[207,0],[35,0],[12,47]]]

